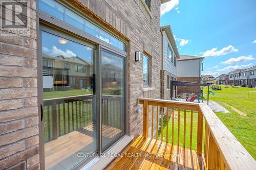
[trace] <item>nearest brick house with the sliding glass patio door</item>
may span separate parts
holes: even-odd
[[[138,98],[160,99],[168,0],[29,2],[30,34],[0,36],[0,169],[87,169],[142,133]]]

